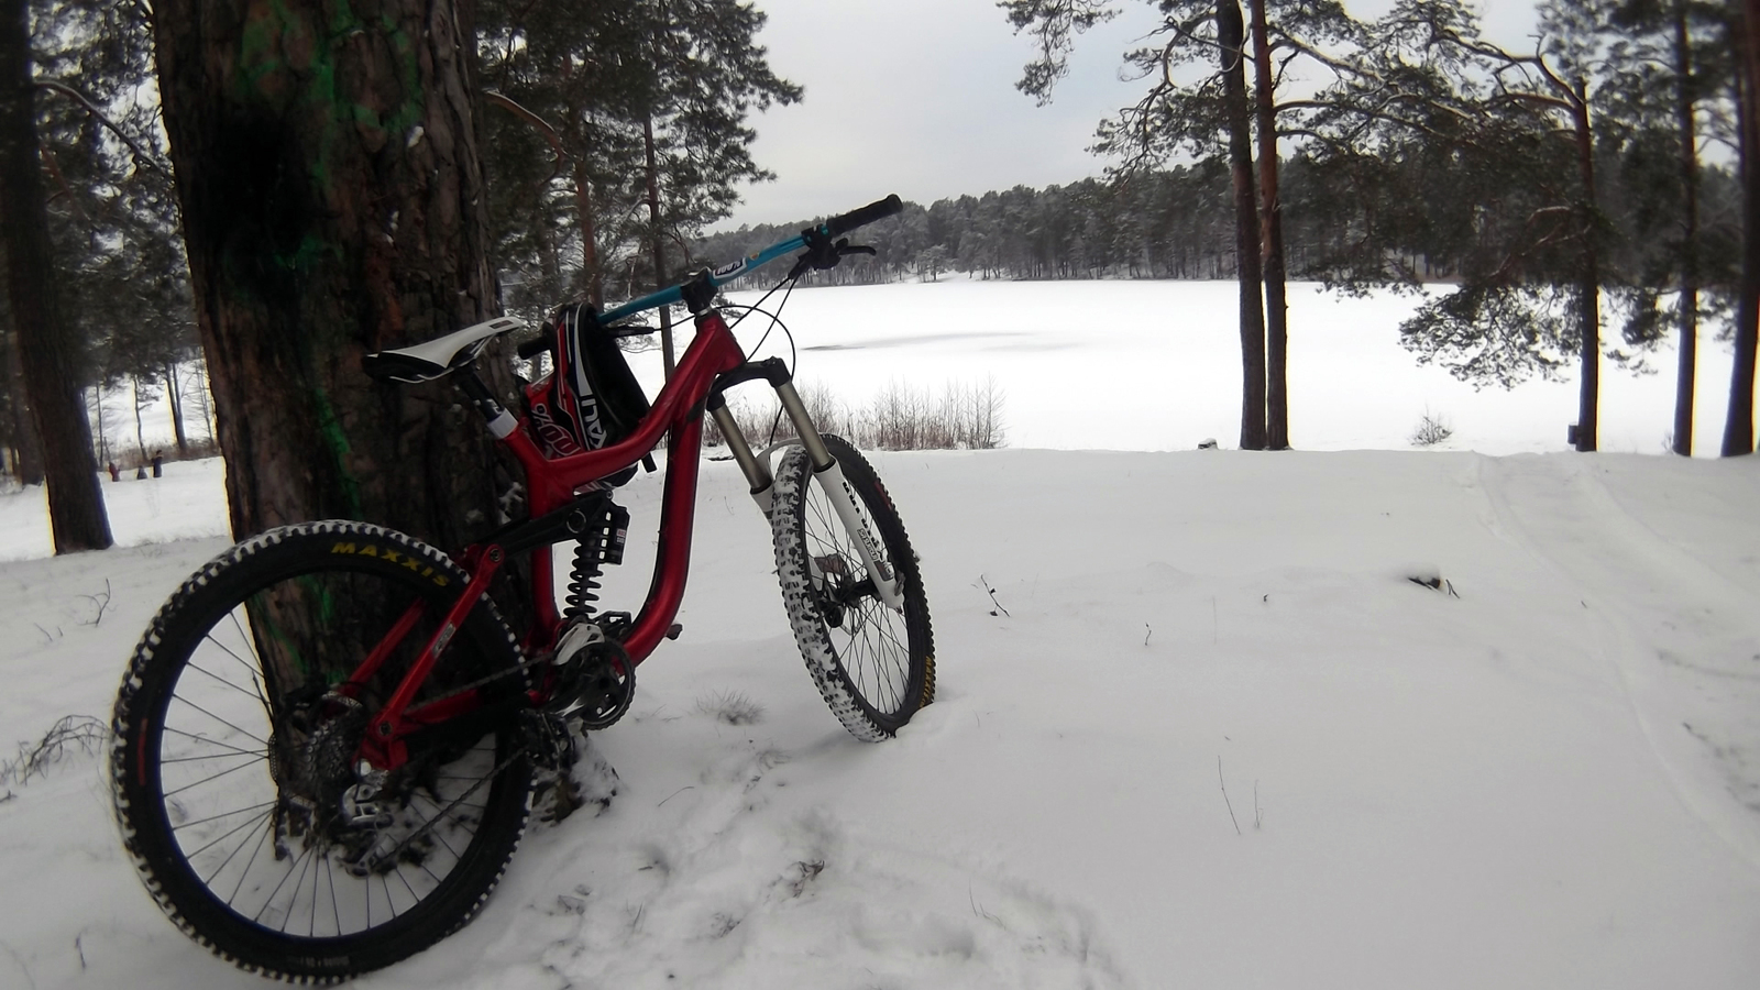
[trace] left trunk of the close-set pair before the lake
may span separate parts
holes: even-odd
[[[1258,204],[1253,196],[1253,137],[1246,106],[1244,25],[1236,0],[1216,4],[1228,166],[1234,176],[1236,280],[1241,285],[1241,449],[1265,449],[1265,314],[1260,301]]]

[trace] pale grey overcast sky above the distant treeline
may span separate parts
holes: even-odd
[[[993,0],[755,0],[769,14],[759,42],[771,69],[806,99],[753,115],[753,153],[776,181],[748,187],[723,225],[841,213],[896,192],[922,204],[1014,185],[1098,174],[1084,148],[1095,125],[1137,102],[1119,55],[1155,23],[1155,7],[1081,37],[1051,106],[1014,88],[1031,55]],[[1346,0],[1373,18],[1389,0]],[[1531,0],[1482,0],[1487,35],[1519,46]]]

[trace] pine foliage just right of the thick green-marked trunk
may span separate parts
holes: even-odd
[[[495,153],[491,187],[510,206],[496,217],[502,243],[524,238],[530,255],[572,225],[579,289],[595,303],[669,282],[688,238],[730,213],[739,183],[773,178],[752,159],[746,118],[801,90],[771,72],[755,42],[762,25],[737,0],[484,4],[486,79],[530,115],[517,127],[549,129],[567,159],[553,166],[530,136]],[[570,187],[567,218],[530,192],[558,178]]]

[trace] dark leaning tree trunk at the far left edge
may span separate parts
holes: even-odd
[[[104,550],[111,544],[109,518],[92,458],[84,395],[74,377],[77,347],[56,294],[60,282],[49,247],[28,25],[25,0],[0,0],[0,217],[5,217],[0,238],[5,238],[7,298],[42,444],[55,551]]]

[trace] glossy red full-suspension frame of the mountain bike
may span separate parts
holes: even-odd
[[[722,319],[718,310],[704,310],[697,315],[695,324],[697,335],[690,342],[690,347],[685,349],[672,380],[655,396],[653,407],[635,426],[635,432],[620,444],[597,451],[546,458],[532,440],[524,417],[514,419],[505,410],[500,410],[498,405],[495,405],[495,410],[500,412],[500,417],[491,416],[491,432],[496,433],[496,439],[524,469],[526,502],[533,520],[567,507],[581,495],[595,490],[598,479],[641,462],[658,446],[660,435],[669,432],[665,490],[660,500],[660,548],[655,560],[653,583],[648,588],[648,599],[641,613],[630,625],[628,636],[621,641],[632,664],[641,664],[653,654],[655,646],[660,645],[672,627],[678,606],[685,599],[685,580],[690,573],[690,537],[695,523],[697,469],[702,451],[704,400],[709,396],[716,377],[746,363],[744,351],[739,349],[739,342],[734,340],[727,321]],[[489,416],[488,410],[486,416]],[[744,451],[743,442],[739,449]],[[750,451],[746,451],[746,456],[750,456]],[[567,539],[567,534],[563,534],[563,539]],[[452,602],[440,629],[410,664],[396,692],[370,720],[364,749],[382,768],[398,766],[407,759],[401,742],[405,735],[479,708],[480,699],[475,691],[465,691],[414,708],[410,703],[433,671],[447,643],[451,643],[452,636],[465,624],[470,610],[477,608],[477,602],[507,558],[509,551],[496,541],[472,544],[465,550],[459,564],[470,574],[470,581],[458,601]],[[363,661],[347,683],[366,683],[373,676],[392,648],[415,625],[421,608],[421,602],[410,606],[410,611],[392,625],[385,639]],[[523,646],[533,652],[549,648],[563,625],[563,618],[556,611],[551,543],[532,546],[532,610],[533,624],[523,638]],[[533,698],[533,701],[542,699],[540,696]]]

